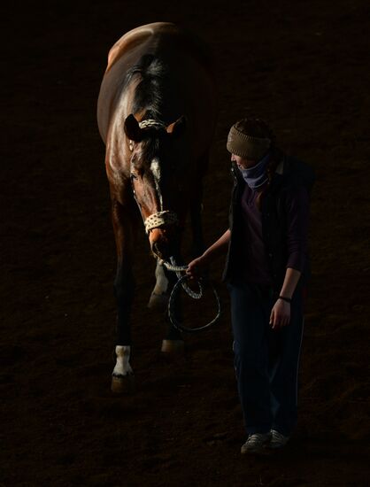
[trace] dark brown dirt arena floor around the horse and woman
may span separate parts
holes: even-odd
[[[368,1],[65,0],[2,12],[0,486],[369,485]],[[227,226],[225,141],[244,113],[268,120],[317,174],[299,422],[262,458],[240,455],[222,259],[212,267],[222,319],[186,336],[171,363],[159,353],[163,317],[146,307],[154,260],[143,233],[136,389],[110,391],[115,248],[96,99],[112,44],[158,20],[194,30],[215,58],[206,243]],[[214,304],[191,310],[199,326]]]

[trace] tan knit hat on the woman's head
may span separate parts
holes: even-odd
[[[271,139],[252,137],[239,130],[236,122],[227,135],[227,151],[241,158],[260,160],[270,148]]]

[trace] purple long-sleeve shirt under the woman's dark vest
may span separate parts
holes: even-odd
[[[258,192],[247,184],[241,201],[245,242],[244,274],[249,282],[269,285],[272,282],[262,236],[261,213],[257,206]],[[304,271],[307,255],[309,197],[304,186],[297,186],[286,197],[287,250],[286,267]]]

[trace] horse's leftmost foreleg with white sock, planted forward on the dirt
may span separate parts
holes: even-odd
[[[129,214],[127,212],[127,214]],[[112,224],[117,246],[117,273],[114,295],[117,301],[116,365],[112,372],[112,391],[123,392],[131,386],[133,369],[130,365],[131,328],[130,313],[134,300],[135,281],[132,273],[134,249],[133,223],[118,202],[112,203]]]

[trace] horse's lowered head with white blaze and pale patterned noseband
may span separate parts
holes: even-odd
[[[189,202],[189,163],[183,143],[186,118],[170,125],[158,120],[125,120],[133,194],[150,249],[159,259],[176,250]]]

